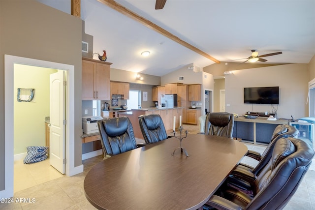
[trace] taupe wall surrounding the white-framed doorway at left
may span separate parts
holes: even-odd
[[[74,166],[82,164],[80,18],[35,0],[0,0],[0,190],[4,189],[4,55],[74,65]]]

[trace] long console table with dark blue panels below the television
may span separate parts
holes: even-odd
[[[267,120],[266,117],[234,118],[233,137],[253,144],[269,144],[273,131],[280,124],[289,124],[289,120]]]

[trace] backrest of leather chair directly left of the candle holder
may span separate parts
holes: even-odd
[[[167,139],[162,118],[159,115],[141,115],[138,117],[140,130],[146,144]]]

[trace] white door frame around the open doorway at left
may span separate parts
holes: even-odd
[[[14,174],[14,64],[33,65],[45,68],[60,69],[66,71],[66,135],[65,135],[65,157],[67,160],[65,173],[67,176],[72,176],[83,172],[83,165],[74,167],[74,65],[35,60],[24,57],[4,55],[4,144],[5,144],[5,159],[4,159],[4,190],[0,191],[1,198],[9,198],[13,196],[13,174]],[[70,109],[71,107],[71,109]],[[43,119],[44,120],[44,119]]]

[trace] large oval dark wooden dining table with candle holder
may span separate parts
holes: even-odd
[[[237,140],[204,134],[182,140],[189,157],[179,146],[172,137],[101,161],[85,177],[86,198],[101,210],[196,210],[248,151]]]

